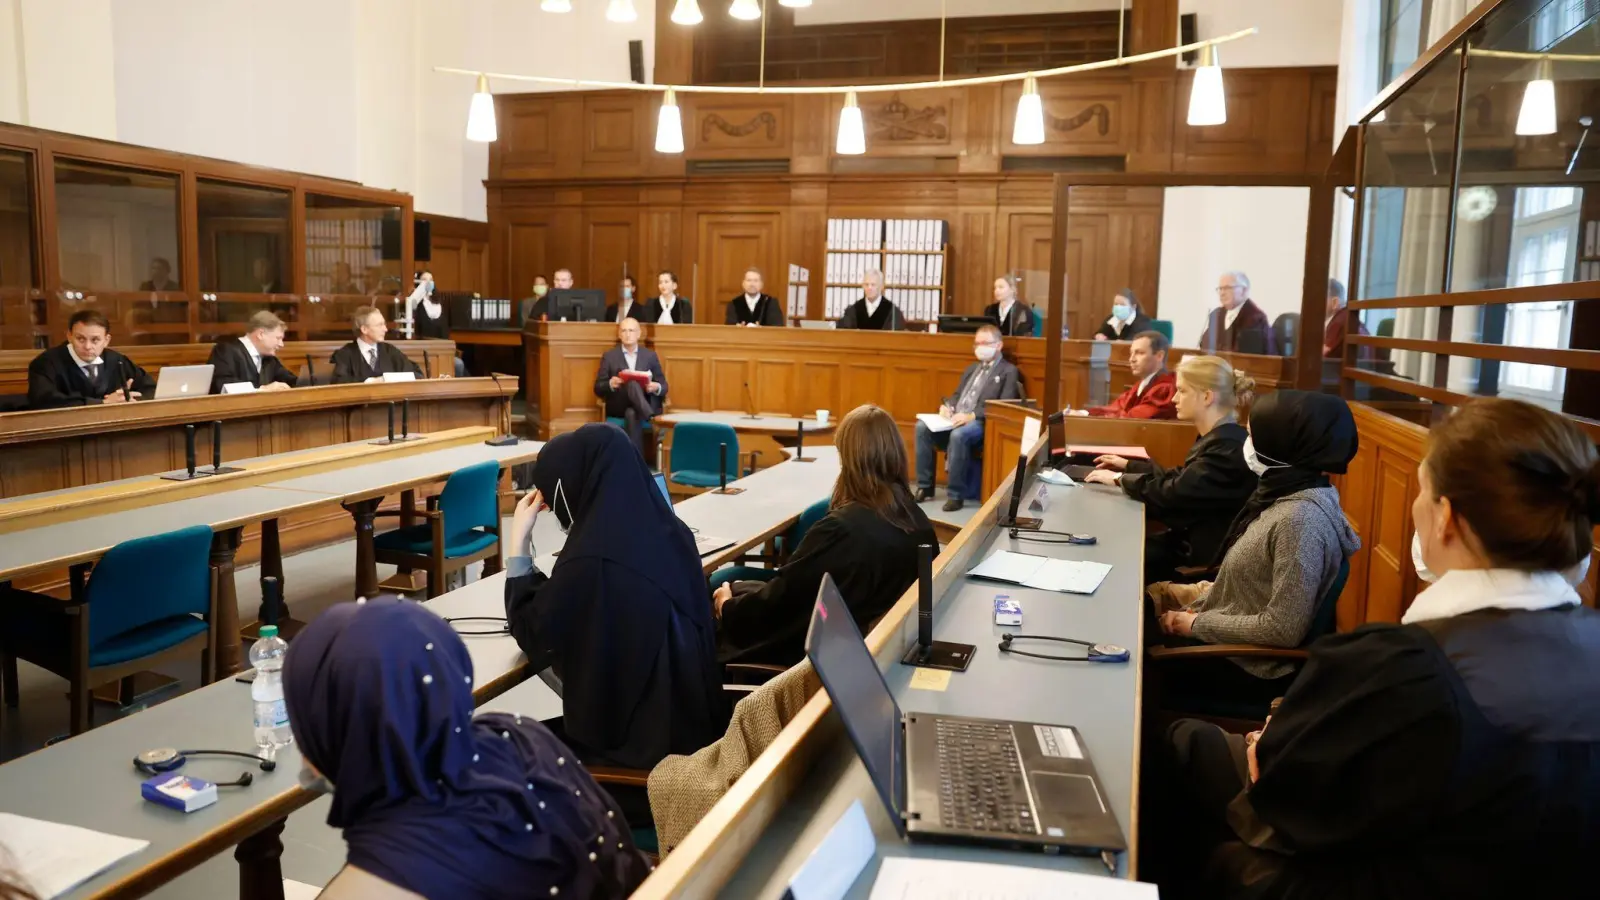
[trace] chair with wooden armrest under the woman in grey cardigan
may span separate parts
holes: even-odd
[[[1258,644],[1194,644],[1190,647],[1150,647],[1149,658],[1162,665],[1162,709],[1205,719],[1221,719],[1219,724],[1229,730],[1251,730],[1256,722],[1266,721],[1270,714],[1270,700],[1242,697],[1195,695],[1182,689],[1184,660],[1219,660],[1219,658],[1251,658],[1251,660],[1285,660],[1294,663],[1296,669],[1310,657],[1310,645],[1318,637],[1339,629],[1339,594],[1350,578],[1350,560],[1339,564],[1339,572],[1333,583],[1323,591],[1312,612],[1310,628],[1299,647],[1262,647]]]

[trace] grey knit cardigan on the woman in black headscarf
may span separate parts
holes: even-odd
[[[1245,528],[1222,557],[1216,581],[1189,607],[1198,613],[1190,633],[1208,644],[1298,647],[1339,564],[1360,546],[1336,488],[1278,500]],[[1293,671],[1275,660],[1234,661],[1258,677]]]

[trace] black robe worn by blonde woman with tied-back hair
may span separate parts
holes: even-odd
[[[1144,503],[1146,517],[1166,525],[1146,538],[1147,581],[1168,581],[1181,565],[1211,565],[1256,490],[1256,472],[1245,464],[1248,436],[1245,426],[1227,421],[1195,439],[1182,466],[1130,460],[1123,493]]]

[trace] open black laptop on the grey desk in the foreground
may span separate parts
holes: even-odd
[[[1109,854],[1128,847],[1072,725],[901,713],[824,575],[805,652],[910,839]]]

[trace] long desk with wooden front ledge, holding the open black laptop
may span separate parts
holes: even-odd
[[[1045,442],[1037,445],[1027,474],[1034,488]],[[1128,838],[1130,852],[1117,858],[1117,876],[1133,878],[1138,860],[1136,801],[1139,794],[1139,690],[1142,663],[1144,511],[1120,492],[1050,487],[1045,528],[1090,532],[1096,546],[1016,541],[995,527],[1010,479],[936,560],[934,637],[974,644],[971,668],[950,679],[944,692],[912,690],[912,669],[899,658],[915,642],[915,588],[867,636],[896,701],[906,711],[1003,717],[1075,725],[1099,772],[1107,799]],[[965,572],[990,551],[1005,548],[1051,557],[1112,564],[1093,596],[1054,594],[1011,585],[981,583]],[[992,623],[992,597],[1010,594],[1022,604],[1024,631],[1120,644],[1134,650],[1126,665],[1086,665],[1002,657],[1003,628]],[[848,897],[866,897],[878,863],[890,855],[963,858],[1067,868],[1106,874],[1098,858],[1050,857],[963,847],[907,844],[856,759],[819,692],[789,722],[728,794],[656,868],[635,898],[656,897],[779,897],[789,878],[818,846],[838,815],[859,801],[872,823],[877,852]]]

